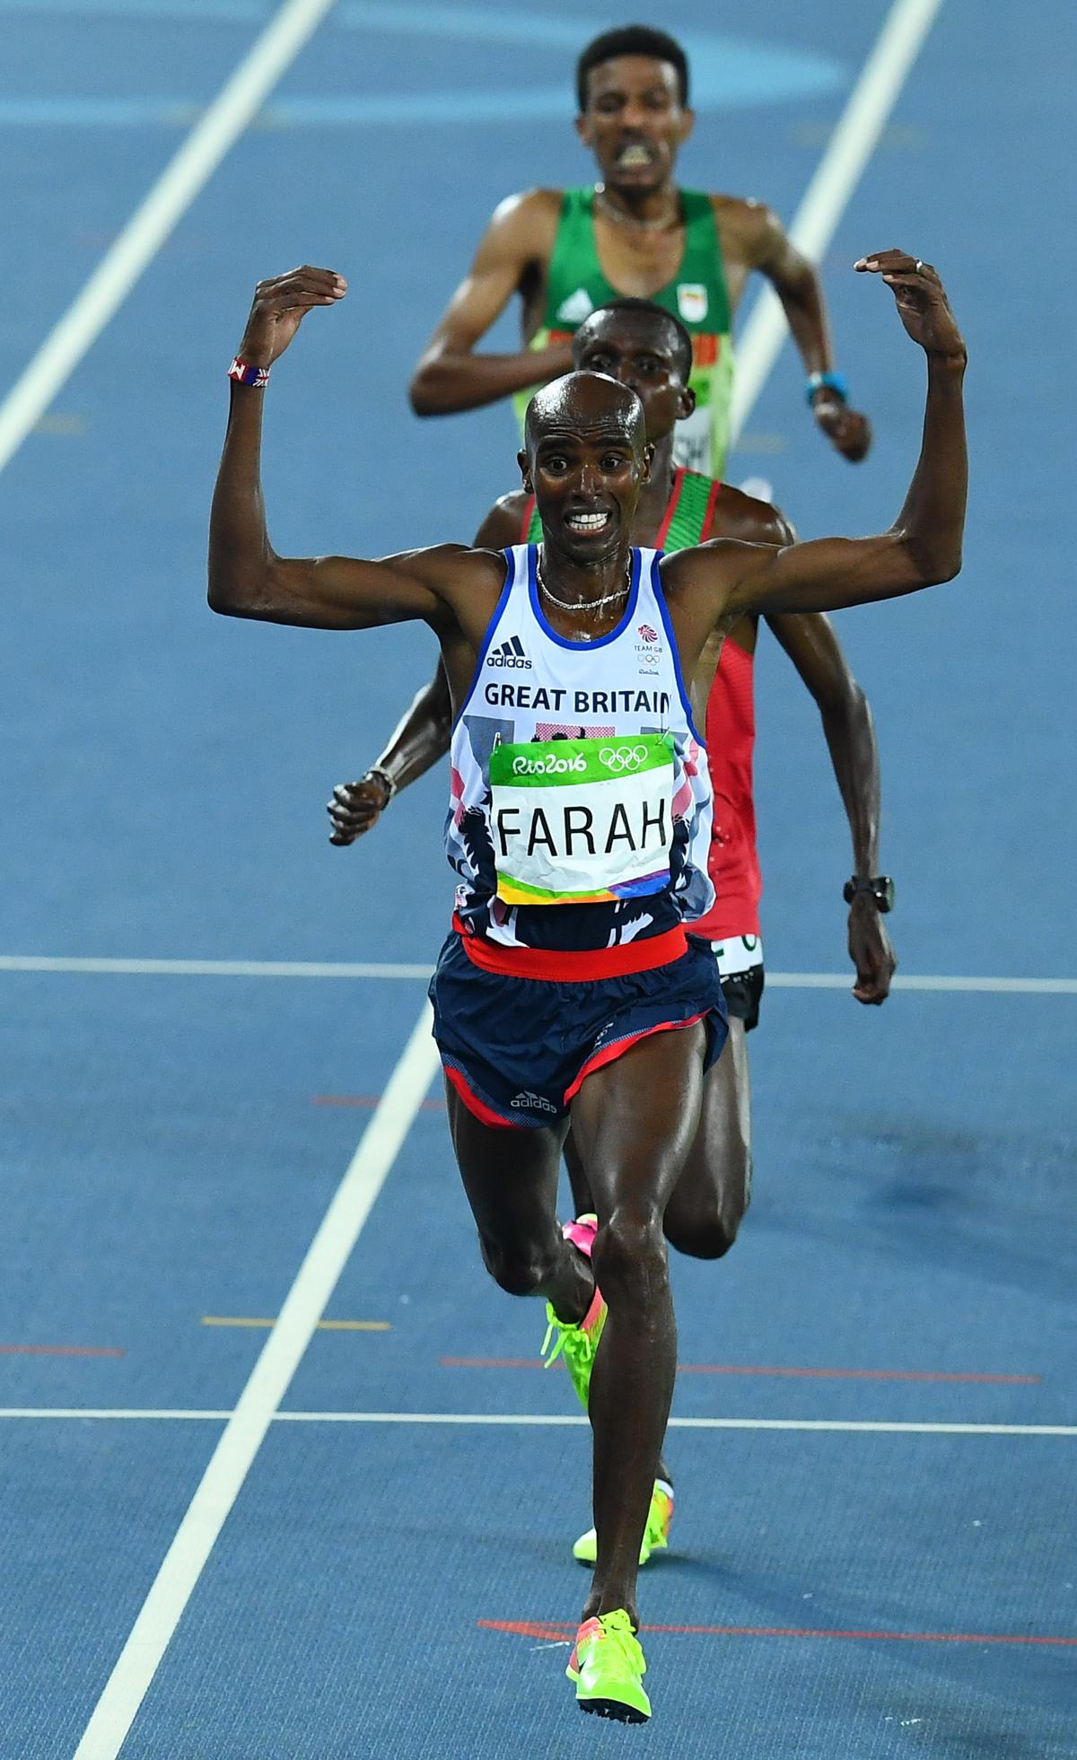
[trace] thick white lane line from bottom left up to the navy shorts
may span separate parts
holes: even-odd
[[[429,1003],[213,1450],[74,1760],[114,1760],[438,1067]]]

